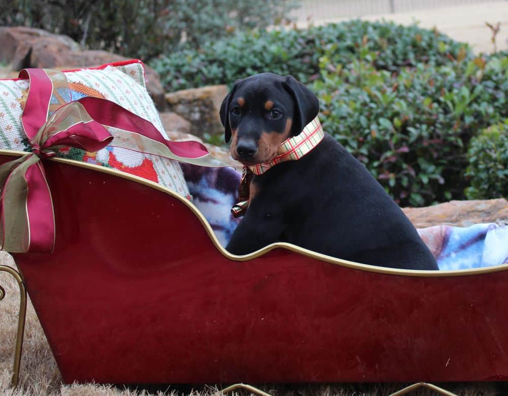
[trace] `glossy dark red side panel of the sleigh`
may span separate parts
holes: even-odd
[[[54,252],[13,256],[66,382],[508,376],[505,265],[396,270],[284,243],[235,257],[167,188],[70,160],[45,169]]]

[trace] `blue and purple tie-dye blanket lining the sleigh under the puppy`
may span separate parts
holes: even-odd
[[[202,168],[181,164],[193,202],[226,246],[240,219],[231,216],[238,200],[240,172],[234,168]],[[508,263],[508,226],[475,224],[462,228],[428,227],[418,230],[440,270],[486,267]]]

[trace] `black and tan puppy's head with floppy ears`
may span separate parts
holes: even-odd
[[[262,73],[238,80],[220,106],[231,156],[244,165],[272,160],[280,144],[298,135],[319,111],[319,101],[292,76]]]

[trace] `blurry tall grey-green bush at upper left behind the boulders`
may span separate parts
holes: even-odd
[[[0,26],[65,34],[91,49],[144,60],[239,29],[284,21],[295,0],[2,0]]]

